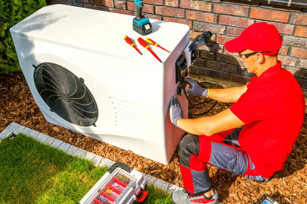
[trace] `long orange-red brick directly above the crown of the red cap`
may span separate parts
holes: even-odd
[[[290,13],[264,9],[251,9],[251,18],[288,23]]]

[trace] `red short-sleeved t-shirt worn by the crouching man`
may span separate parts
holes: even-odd
[[[281,67],[254,76],[230,110],[245,123],[239,144],[265,178],[283,168],[304,121],[305,99],[294,76]]]

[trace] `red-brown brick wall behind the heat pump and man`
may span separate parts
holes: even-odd
[[[51,0],[90,9],[134,15],[133,0]],[[236,0],[144,0],[148,18],[187,24],[193,39],[205,31],[213,36],[208,46],[196,51],[190,71],[241,83],[250,75],[237,54],[228,53],[224,43],[239,36],[249,25],[265,21],[274,24],[282,35],[278,59],[307,91],[307,9],[273,6]]]

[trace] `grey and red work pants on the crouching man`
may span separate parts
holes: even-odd
[[[179,144],[179,166],[185,189],[191,196],[201,195],[211,189],[207,164],[232,172],[232,176],[263,181],[250,157],[239,146],[242,128],[216,135],[186,135]]]

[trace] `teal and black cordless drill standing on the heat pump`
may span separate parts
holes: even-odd
[[[136,17],[133,19],[133,30],[141,35],[146,35],[152,31],[149,19],[142,16],[143,0],[134,0]]]

